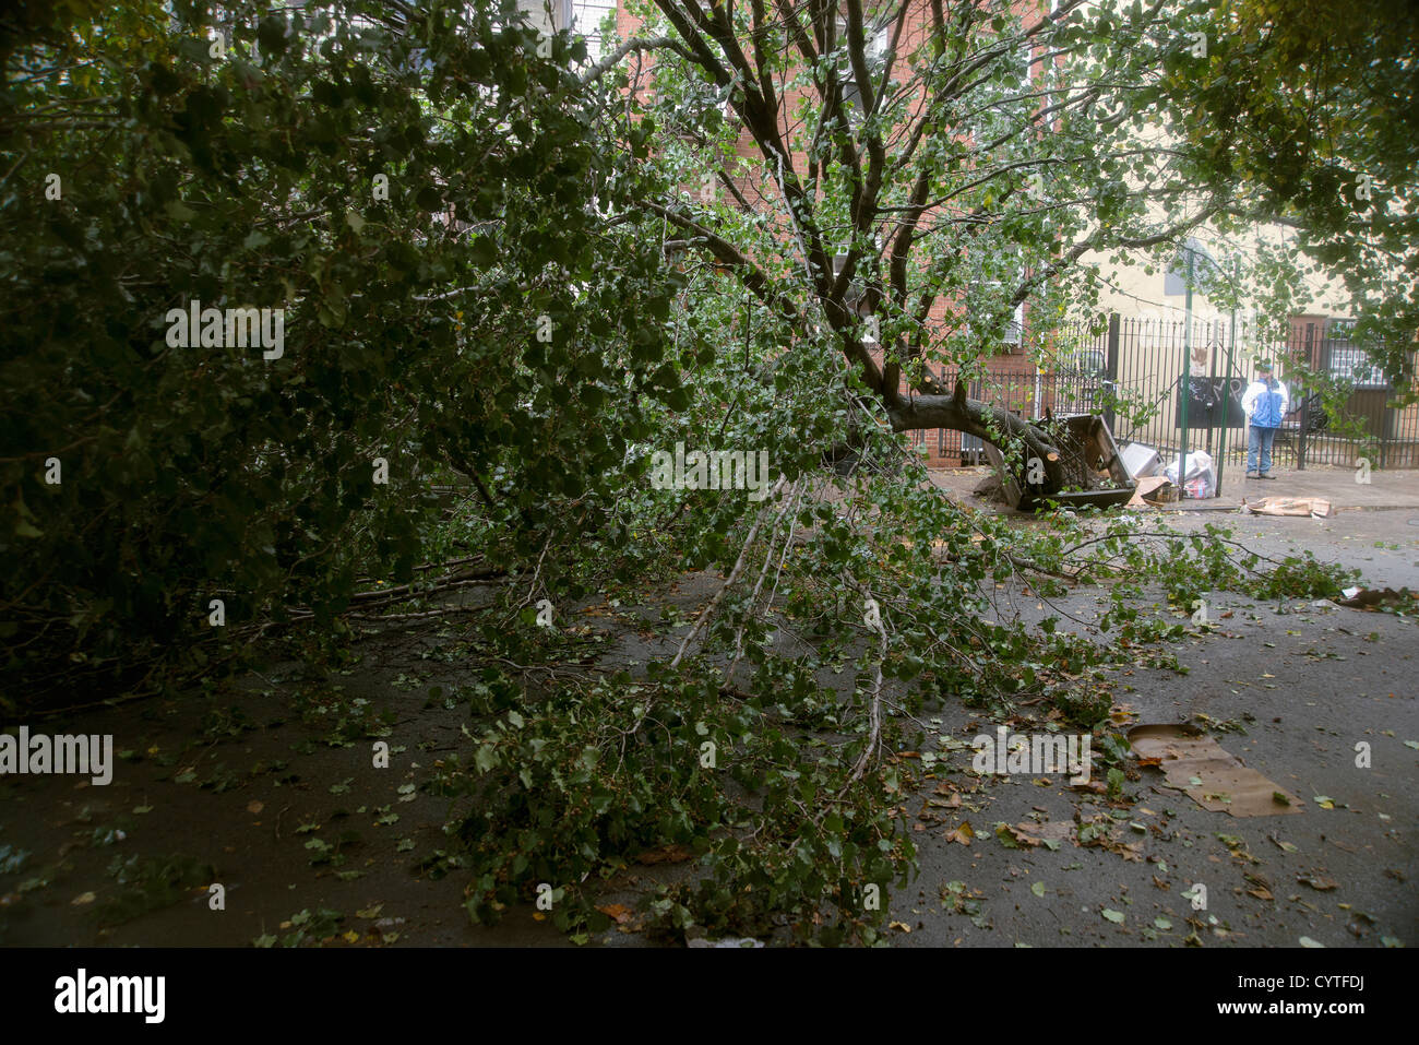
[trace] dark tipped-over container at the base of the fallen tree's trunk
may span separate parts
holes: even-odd
[[[1036,427],[1059,450],[1063,483],[1051,491],[1044,484],[1027,483],[1022,473],[1010,474],[1000,450],[986,443],[986,459],[1000,478],[1009,505],[1034,511],[1053,501],[1061,508],[1111,508],[1134,496],[1137,484],[1118,456],[1114,433],[1097,413],[1054,417],[1037,422]]]

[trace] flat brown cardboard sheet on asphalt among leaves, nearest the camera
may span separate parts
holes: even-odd
[[[1212,812],[1233,816],[1281,816],[1303,812],[1301,799],[1230,754],[1206,734],[1174,724],[1142,724],[1128,731],[1139,758],[1159,760],[1168,787]],[[1193,779],[1202,781],[1193,784]],[[1277,801],[1286,795],[1286,801]]]

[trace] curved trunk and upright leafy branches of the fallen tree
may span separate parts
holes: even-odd
[[[985,373],[1016,307],[1029,304],[1039,344],[1088,298],[1086,280],[1066,280],[1083,256],[1159,247],[1246,210],[1235,185],[1178,176],[1205,169],[1202,146],[1135,132],[1179,45],[1174,7],[633,10],[646,35],[620,50],[636,57],[626,108],[656,128],[671,189],[654,213],[789,327],[817,328],[796,348],[840,352],[894,430],[1020,446],[1044,463],[1046,493],[1061,484],[1056,447],[968,398],[964,378]],[[952,389],[934,376],[944,365],[961,371]]]

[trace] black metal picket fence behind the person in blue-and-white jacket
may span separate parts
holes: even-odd
[[[1263,341],[1230,318],[1189,325],[1115,314],[1057,329],[1040,366],[1017,356],[995,361],[989,376],[973,379],[968,390],[1032,419],[1103,413],[1120,443],[1139,442],[1165,454],[1186,443],[1230,470],[1246,457],[1242,395],[1256,378],[1256,362],[1266,358],[1287,385],[1291,407],[1273,447],[1274,467],[1357,467],[1361,459],[1372,469],[1419,467],[1419,405],[1389,406],[1393,388],[1347,334],[1345,321],[1304,318],[1287,337]],[[1352,385],[1337,416],[1321,405],[1320,389],[1298,376],[1300,361]],[[955,385],[949,368],[938,378],[945,388]],[[979,440],[959,432],[914,439],[945,464],[983,461]]]

